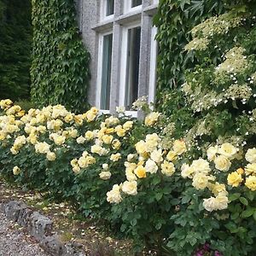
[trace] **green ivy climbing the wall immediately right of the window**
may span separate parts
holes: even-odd
[[[195,55],[185,52],[191,29],[224,10],[222,0],[161,0],[154,23],[158,27],[157,107],[167,115],[183,107],[178,88],[184,82],[185,70],[196,64]],[[183,117],[189,118],[184,110]]]

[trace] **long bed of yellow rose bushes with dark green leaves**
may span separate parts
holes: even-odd
[[[96,108],[0,106],[1,176],[9,182],[102,218],[137,251],[193,255],[207,243],[212,253],[255,252],[256,148],[221,143],[193,159],[182,139],[166,143],[160,113],[140,122]]]

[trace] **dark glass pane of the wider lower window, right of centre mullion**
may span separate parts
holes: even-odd
[[[125,86],[125,107],[127,109],[131,109],[132,102],[137,100],[140,45],[141,27],[137,26],[129,29]]]

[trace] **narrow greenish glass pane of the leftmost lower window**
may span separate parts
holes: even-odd
[[[101,109],[109,109],[113,34],[103,38]]]

